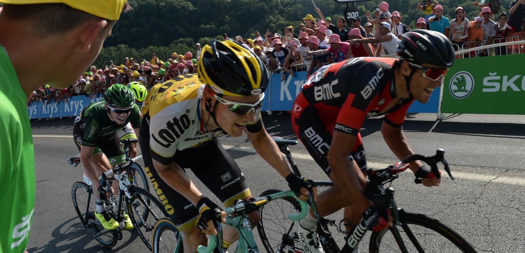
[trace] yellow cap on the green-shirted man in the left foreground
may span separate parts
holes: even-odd
[[[3,4],[67,4],[91,15],[109,20],[119,20],[127,0],[0,0]]]

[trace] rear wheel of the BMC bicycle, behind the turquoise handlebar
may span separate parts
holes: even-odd
[[[260,196],[279,192],[281,191],[278,189],[269,189]],[[288,218],[288,214],[299,212],[301,212],[301,206],[293,197],[272,199],[268,204],[259,207],[257,230],[262,245],[268,252],[302,252],[296,222]]]

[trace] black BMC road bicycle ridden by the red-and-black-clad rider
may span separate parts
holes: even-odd
[[[289,145],[295,145],[297,142],[281,138],[274,138],[274,140],[278,143],[281,152],[286,155],[293,172],[300,175],[297,164],[288,149]],[[436,175],[439,175],[437,163],[443,163],[445,171],[450,178],[454,179],[444,158],[444,153],[444,150],[438,149],[434,156],[410,155],[383,170],[369,172],[369,183],[365,188],[365,194],[379,208],[388,208],[394,223],[394,226],[388,229],[372,232],[369,252],[476,252],[463,237],[439,220],[424,214],[406,212],[398,207],[394,200],[394,189],[390,187],[391,183],[398,178],[398,173],[409,167],[409,162],[421,160],[427,163]],[[421,182],[417,178],[415,181],[416,183]],[[318,187],[333,186],[330,181],[313,182]],[[385,186],[387,184],[390,185]],[[278,189],[270,189],[263,192],[261,196],[278,192],[280,192]],[[286,217],[290,212],[302,212],[303,207],[297,204],[297,198],[294,196],[280,200],[259,208],[257,229],[262,244],[268,252],[272,253],[304,252],[296,232],[295,221]],[[351,231],[346,231],[341,226],[345,225],[344,223],[345,220],[341,220],[339,225],[335,220],[327,218],[319,220],[316,231],[325,252],[352,252],[354,248],[359,247],[367,231],[363,220]],[[339,233],[339,237],[350,236],[344,237],[344,240],[336,240],[332,231]]]

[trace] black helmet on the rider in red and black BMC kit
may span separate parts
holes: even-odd
[[[417,29],[404,33],[396,54],[422,66],[432,64],[448,68],[454,64],[454,48],[445,35],[437,31]]]

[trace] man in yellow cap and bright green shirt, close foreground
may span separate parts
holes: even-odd
[[[6,206],[0,209],[0,253],[24,252],[33,220],[35,157],[26,109],[31,92],[75,81],[129,8],[126,2],[0,0],[0,203]]]

